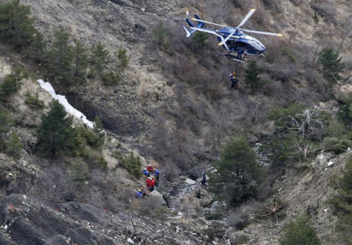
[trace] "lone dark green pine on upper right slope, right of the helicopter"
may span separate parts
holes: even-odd
[[[320,67],[324,78],[329,82],[332,88],[334,84],[341,80],[340,72],[345,68],[342,58],[339,57],[338,51],[330,47],[324,47],[318,52],[317,64]]]

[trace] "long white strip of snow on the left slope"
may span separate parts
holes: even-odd
[[[83,122],[89,127],[89,128],[93,128],[94,122],[90,121],[87,119],[87,117],[85,115],[83,115],[82,112],[78,111],[77,109],[73,108],[73,106],[71,106],[66,97],[60,94],[56,94],[53,86],[48,83],[48,82],[44,82],[43,80],[39,79],[37,80],[38,83],[40,84],[40,87],[42,87],[45,91],[47,91],[49,94],[51,94],[53,96],[54,99],[58,100],[64,107],[67,113],[73,115],[74,117],[80,118],[83,120]]]

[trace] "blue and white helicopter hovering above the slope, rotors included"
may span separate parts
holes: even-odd
[[[257,33],[257,34],[277,36],[277,37],[283,36],[283,34],[280,34],[280,33],[260,32],[260,31],[242,29],[241,27],[250,18],[250,16],[253,15],[255,11],[256,9],[250,9],[247,15],[241,21],[241,23],[234,28],[234,27],[228,27],[222,24],[217,24],[210,21],[202,20],[199,18],[198,15],[194,14],[194,18],[191,18],[191,20],[195,20],[198,22],[197,25],[195,26],[193,22],[188,18],[189,12],[187,10],[186,22],[191,30],[189,31],[184,24],[182,24],[182,27],[186,32],[187,38],[190,38],[192,34],[196,31],[215,35],[217,39],[220,41],[218,45],[221,45],[223,48],[225,48],[225,50],[229,51],[227,54],[224,55],[225,57],[232,58],[236,61],[247,62],[249,61],[249,58],[245,57],[247,54],[264,56],[265,46],[258,39],[252,36],[246,35],[243,32]],[[219,30],[204,28],[203,27],[204,23],[213,24],[214,26],[220,26],[222,28]],[[243,58],[242,58],[242,53],[244,54]]]

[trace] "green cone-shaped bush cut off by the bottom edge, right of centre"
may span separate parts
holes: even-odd
[[[281,245],[320,245],[309,216],[302,215],[291,221],[285,234],[279,239]]]

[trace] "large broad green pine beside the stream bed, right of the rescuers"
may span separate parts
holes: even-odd
[[[236,206],[256,197],[257,185],[263,181],[265,172],[245,139],[230,138],[213,166],[217,171],[210,178],[211,190],[218,198],[228,199]]]

